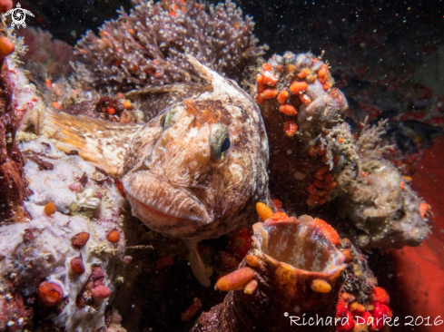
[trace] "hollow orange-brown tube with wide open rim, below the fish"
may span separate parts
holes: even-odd
[[[324,322],[326,317],[334,318],[345,257],[331,242],[328,230],[309,216],[265,220],[253,229],[252,249],[242,269],[222,278],[235,281],[243,269],[252,269],[253,277],[203,313],[191,331],[285,331],[291,328],[290,317],[316,319],[318,315]],[[251,280],[257,282],[255,288],[248,286]],[[335,329],[333,321],[329,327],[307,326],[298,331]]]

